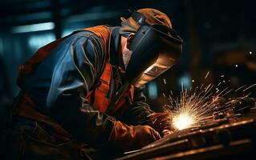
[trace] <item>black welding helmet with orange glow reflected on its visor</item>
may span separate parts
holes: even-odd
[[[138,12],[132,18],[140,25],[132,38],[132,56],[126,68],[128,82],[139,87],[172,67],[182,52],[182,39],[172,28],[149,25]]]

